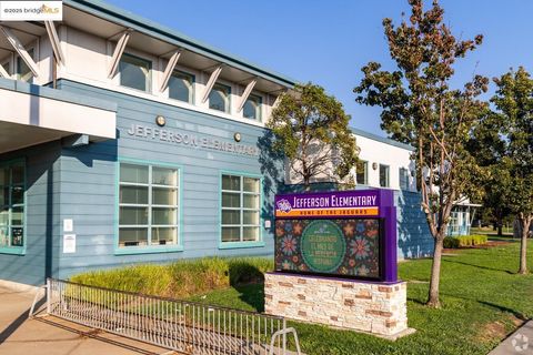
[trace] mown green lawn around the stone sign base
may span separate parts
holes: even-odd
[[[486,354],[523,320],[533,318],[533,275],[516,275],[519,243],[487,250],[462,250],[444,256],[441,310],[423,305],[430,260],[400,264],[409,282],[409,326],[416,333],[396,342],[324,326],[291,323],[306,354]],[[529,247],[533,268],[533,241]],[[249,311],[263,311],[263,286],[213,291],[191,300]]]

